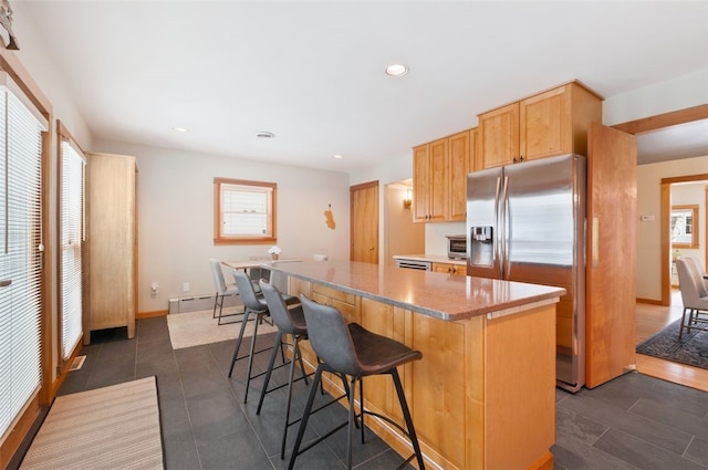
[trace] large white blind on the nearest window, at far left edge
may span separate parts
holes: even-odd
[[[0,437],[41,386],[41,132],[0,76]],[[17,91],[15,91],[17,90]]]

